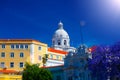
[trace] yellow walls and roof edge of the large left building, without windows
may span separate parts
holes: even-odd
[[[2,49],[1,45],[5,44],[6,48]],[[28,45],[28,49],[11,49],[11,44],[27,44]],[[34,59],[34,62],[32,62],[31,59],[31,44],[34,45],[34,52],[32,54],[34,54],[34,56],[32,56],[32,58]],[[38,47],[41,46],[41,50],[38,50]],[[2,58],[1,57],[1,52],[5,52],[5,57]],[[14,58],[10,57],[10,53],[14,52]],[[24,53],[24,57],[21,58],[20,52]],[[40,63],[40,66],[42,66],[42,57],[44,54],[47,53],[47,44],[41,43],[39,41],[35,41],[35,40],[0,40],[0,63],[4,62],[5,66],[7,67],[7,69],[12,69],[12,70],[18,70],[21,71],[23,70],[23,68],[19,67],[19,63],[23,62],[24,64],[26,62],[29,63]],[[41,60],[39,60],[39,56],[41,56]],[[14,62],[14,67],[11,68],[10,67],[10,62]]]

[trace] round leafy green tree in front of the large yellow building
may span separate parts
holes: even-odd
[[[39,68],[38,64],[25,64],[22,74],[22,80],[52,80],[52,74],[49,70]]]

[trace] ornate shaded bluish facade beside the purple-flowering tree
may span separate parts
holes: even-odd
[[[91,80],[87,66],[87,48],[81,45],[77,52],[69,52],[64,60],[65,80]]]

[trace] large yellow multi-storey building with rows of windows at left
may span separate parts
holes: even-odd
[[[0,67],[22,71],[26,62],[42,66],[47,44],[32,39],[0,39]]]

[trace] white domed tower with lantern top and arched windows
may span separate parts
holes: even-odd
[[[70,46],[69,41],[69,35],[64,30],[63,23],[60,21],[58,23],[58,29],[55,31],[52,38],[52,47],[63,50],[63,48],[67,48]]]

